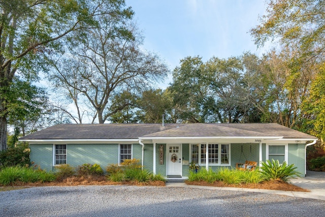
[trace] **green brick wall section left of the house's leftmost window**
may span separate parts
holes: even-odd
[[[38,165],[41,169],[51,171],[53,165],[52,144],[30,144],[30,162]]]

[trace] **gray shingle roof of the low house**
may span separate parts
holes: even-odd
[[[56,125],[20,139],[138,139],[146,137],[283,137],[316,139],[277,123]]]

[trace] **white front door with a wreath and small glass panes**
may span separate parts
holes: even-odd
[[[182,175],[181,144],[167,145],[167,175]]]

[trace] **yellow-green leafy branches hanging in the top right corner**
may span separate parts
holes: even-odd
[[[269,39],[295,49],[304,57],[319,57],[325,51],[325,2],[318,0],[271,0],[261,24],[251,29],[255,43]],[[308,59],[308,58],[307,58]]]

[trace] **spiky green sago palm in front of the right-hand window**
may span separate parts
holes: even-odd
[[[282,164],[278,160],[272,159],[262,162],[261,174],[265,177],[266,180],[282,180],[288,182],[291,178],[300,177],[300,172],[296,171],[297,167],[295,164],[287,165],[285,161]]]

